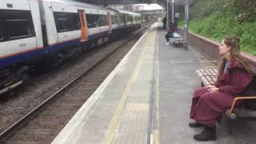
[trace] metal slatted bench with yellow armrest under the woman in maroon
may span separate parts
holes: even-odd
[[[198,64],[198,69],[196,73],[198,74],[199,78],[201,79],[202,86],[207,86],[210,84],[214,84],[218,78],[218,61],[201,61]],[[206,64],[206,63],[210,63]],[[224,114],[222,114],[223,118],[226,120],[226,129],[228,134],[232,134],[232,125],[235,121],[256,121],[256,110],[251,110],[246,108],[246,106],[242,107],[235,107],[238,101],[252,101],[256,99],[256,96],[236,96],[232,103],[230,109],[226,110]],[[256,105],[256,102],[255,102]],[[256,107],[256,106],[255,106]]]

